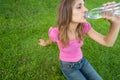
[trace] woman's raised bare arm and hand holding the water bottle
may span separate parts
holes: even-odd
[[[103,6],[114,4],[115,2],[108,2]],[[93,28],[88,32],[88,36],[95,40],[96,42],[111,47],[115,43],[119,30],[120,30],[120,16],[103,16],[104,19],[108,20],[110,23],[110,29],[106,36],[99,34]]]

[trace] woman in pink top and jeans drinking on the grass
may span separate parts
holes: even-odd
[[[103,6],[114,4],[108,2]],[[57,27],[49,29],[50,39],[40,39],[41,46],[47,46],[56,42],[60,50],[61,70],[67,80],[102,80],[85,57],[83,57],[81,46],[84,35],[101,45],[113,46],[119,30],[120,16],[103,16],[110,22],[110,30],[106,36],[96,32],[84,15],[87,12],[84,0],[61,0],[58,11]]]

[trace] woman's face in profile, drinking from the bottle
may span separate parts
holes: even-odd
[[[84,6],[83,0],[75,0],[72,7],[72,22],[75,23],[84,23],[86,22],[85,13],[87,8]]]

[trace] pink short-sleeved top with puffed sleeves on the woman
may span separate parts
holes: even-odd
[[[91,28],[91,25],[86,22],[84,26],[84,33],[87,34]],[[66,62],[77,62],[82,59],[83,54],[81,51],[81,47],[83,41],[78,42],[78,40],[71,40],[68,42],[68,45],[65,48],[62,48],[61,42],[58,39],[58,28],[50,27],[48,35],[53,42],[57,42],[60,54],[59,58],[61,61]]]

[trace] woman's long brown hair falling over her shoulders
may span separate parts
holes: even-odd
[[[58,20],[57,26],[59,30],[58,38],[62,43],[63,47],[66,47],[69,41],[68,29],[69,24],[72,21],[72,6],[75,0],[61,0],[58,9]],[[79,23],[76,28],[78,40],[83,40],[83,27],[84,24]]]

